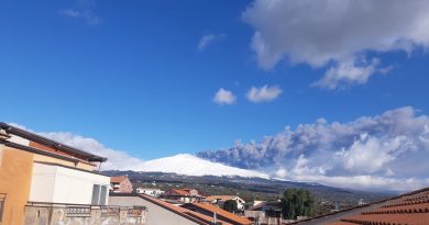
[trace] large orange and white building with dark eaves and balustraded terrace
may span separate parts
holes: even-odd
[[[0,123],[0,225],[128,220],[131,209],[107,206],[110,178],[97,171],[106,160]]]

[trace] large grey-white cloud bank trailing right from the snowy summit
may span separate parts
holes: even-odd
[[[359,117],[349,123],[287,126],[260,143],[199,157],[275,177],[329,185],[407,191],[429,185],[429,116],[410,106]]]

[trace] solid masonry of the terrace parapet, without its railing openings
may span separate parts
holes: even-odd
[[[146,225],[147,211],[140,215],[129,214],[128,209],[114,209],[118,213],[106,214],[101,207],[82,207],[86,215],[67,214],[66,206],[28,205],[25,225]]]

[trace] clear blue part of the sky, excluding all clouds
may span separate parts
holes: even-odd
[[[343,59],[264,64],[252,47],[261,23],[243,18],[252,2],[2,1],[0,120],[153,159],[260,140],[319,117],[348,122],[407,105],[429,112],[425,47],[370,46],[360,54],[387,72],[316,87]],[[208,35],[212,42],[199,48]],[[252,87],[265,85],[282,93],[248,100]],[[235,95],[233,104],[212,101],[220,88]]]

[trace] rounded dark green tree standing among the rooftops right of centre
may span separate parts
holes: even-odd
[[[315,202],[308,190],[287,189],[282,198],[282,215],[289,220],[297,216],[314,216]]]

